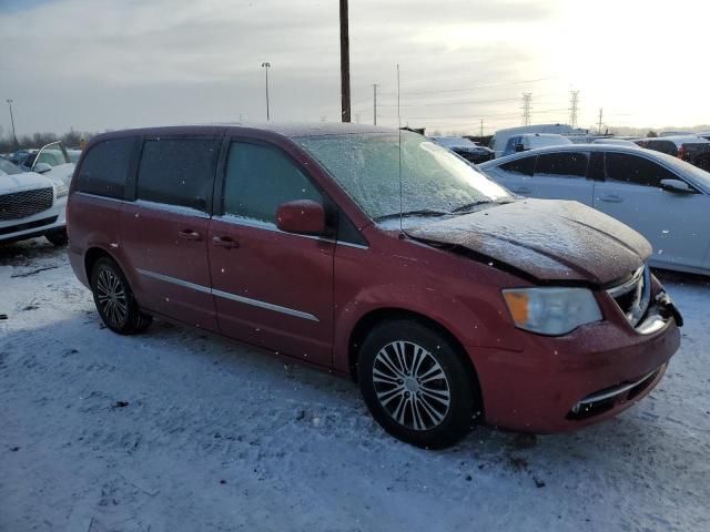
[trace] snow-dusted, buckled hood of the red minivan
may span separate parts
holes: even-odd
[[[538,280],[606,285],[629,276],[651,245],[627,225],[577,202],[521,200],[408,229],[413,238],[462,246]]]

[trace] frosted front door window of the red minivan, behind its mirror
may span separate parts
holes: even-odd
[[[224,181],[224,213],[276,223],[278,205],[294,200],[323,203],[322,194],[275,146],[233,142]]]

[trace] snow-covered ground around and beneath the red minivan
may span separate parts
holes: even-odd
[[[710,283],[659,388],[562,436],[424,451],[355,385],[182,327],[100,324],[64,249],[0,246],[0,530],[710,530]]]

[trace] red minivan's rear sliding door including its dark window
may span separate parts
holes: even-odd
[[[134,202],[121,208],[121,254],[148,310],[217,330],[207,232],[221,139],[145,140]]]

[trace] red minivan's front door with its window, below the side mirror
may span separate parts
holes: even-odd
[[[293,200],[325,201],[281,149],[232,142],[209,235],[220,329],[329,367],[335,244],[277,229],[278,205]]]

